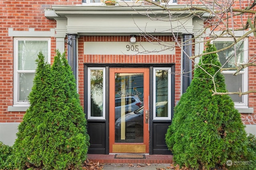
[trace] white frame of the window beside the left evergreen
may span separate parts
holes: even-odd
[[[48,37],[14,38],[14,77],[13,77],[13,106],[30,106],[29,102],[20,102],[19,99],[19,77],[20,72],[35,73],[36,70],[18,70],[18,41],[48,41],[48,63],[51,62],[51,39]],[[38,56],[35,56],[35,60]]]

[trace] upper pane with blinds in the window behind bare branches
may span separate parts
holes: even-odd
[[[231,45],[233,41],[214,41],[217,50],[223,49]],[[235,55],[236,51],[236,55]],[[234,67],[235,64],[244,62],[244,41],[239,41],[235,46],[218,52],[220,63],[223,68]]]

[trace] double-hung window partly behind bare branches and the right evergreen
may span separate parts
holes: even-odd
[[[217,50],[228,47],[234,42],[232,38],[218,38],[213,43]],[[218,52],[220,63],[223,68],[235,68],[236,65],[248,61],[248,39],[239,41],[233,47]],[[226,88],[228,92],[248,91],[248,68],[244,68],[237,76],[234,76],[235,69],[223,70]],[[230,95],[236,107],[248,106],[248,95]]]

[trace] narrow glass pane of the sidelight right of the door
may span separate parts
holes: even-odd
[[[168,70],[156,70],[156,117],[168,117]]]

